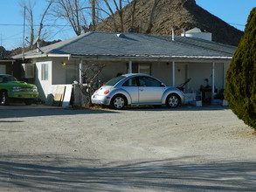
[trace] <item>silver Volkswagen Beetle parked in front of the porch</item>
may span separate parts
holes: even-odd
[[[183,92],[146,74],[124,74],[107,81],[92,95],[92,103],[122,109],[129,105],[166,105],[184,102]]]

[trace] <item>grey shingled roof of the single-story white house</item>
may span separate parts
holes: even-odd
[[[24,58],[68,57],[90,59],[140,58],[230,60],[236,47],[199,38],[139,33],[87,32],[78,37],[24,53]],[[22,58],[17,55],[13,58]]]

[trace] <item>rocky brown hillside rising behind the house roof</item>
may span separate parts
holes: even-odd
[[[123,9],[123,23],[126,29],[123,32],[128,32],[128,29],[132,27],[132,7],[133,4]],[[134,23],[136,31],[147,32],[152,7],[152,0],[137,0]],[[120,21],[117,13],[114,15],[114,20]],[[235,29],[198,6],[195,0],[160,0],[153,15],[152,24],[150,34],[170,35],[171,28],[175,27],[176,35],[180,35],[183,28],[190,30],[197,27],[211,32],[213,41],[227,45],[239,45],[239,40],[244,34],[243,31]],[[114,31],[113,25],[113,18],[108,17],[98,24],[97,31]]]

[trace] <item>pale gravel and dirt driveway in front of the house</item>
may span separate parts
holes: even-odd
[[[255,191],[252,133],[223,107],[0,106],[0,191]]]

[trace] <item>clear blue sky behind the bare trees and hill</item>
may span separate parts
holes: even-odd
[[[23,9],[19,2],[20,0],[0,0],[0,46],[3,46],[8,51],[23,45],[24,18]],[[43,2],[43,0],[38,0],[35,6],[35,19],[39,19],[40,14],[42,14]],[[240,31],[245,30],[247,17],[253,7],[256,7],[256,0],[196,0],[196,2],[204,10]],[[37,24],[37,22],[35,23]],[[47,21],[46,23],[52,24],[52,21]],[[67,22],[62,21],[59,25],[55,29],[47,29],[50,35],[45,38],[46,41],[66,40],[75,37]]]

